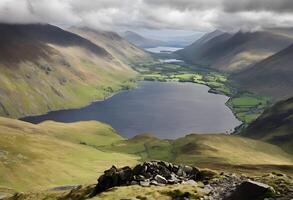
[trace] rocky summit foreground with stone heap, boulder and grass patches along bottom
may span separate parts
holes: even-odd
[[[62,188],[68,192],[58,193],[54,197],[51,194],[42,196],[17,193],[8,199],[293,199],[293,178],[289,175],[281,173],[263,176],[236,175],[164,161],[144,162],[133,168],[112,166],[99,177],[96,185],[72,188],[63,186],[55,188],[55,191],[62,191]]]

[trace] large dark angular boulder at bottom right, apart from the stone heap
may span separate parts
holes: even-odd
[[[241,183],[225,200],[264,199],[266,197],[272,197],[273,194],[274,189],[269,185],[248,180]]]

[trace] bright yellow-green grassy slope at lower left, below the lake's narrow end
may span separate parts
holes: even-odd
[[[0,135],[0,185],[18,190],[93,183],[113,164],[137,162],[135,156],[93,147],[122,140],[99,122],[32,125],[0,118]]]

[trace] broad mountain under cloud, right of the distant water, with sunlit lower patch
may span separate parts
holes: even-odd
[[[205,35],[176,54],[193,64],[237,72],[273,55],[292,42],[291,37],[268,31],[240,31],[235,34],[216,32],[216,36],[214,33]]]

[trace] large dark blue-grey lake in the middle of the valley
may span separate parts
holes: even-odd
[[[112,125],[122,136],[153,133],[173,139],[189,133],[230,132],[240,122],[225,105],[228,97],[208,93],[194,83],[141,81],[133,90],[80,109],[54,111],[22,120],[76,122],[98,120]]]

